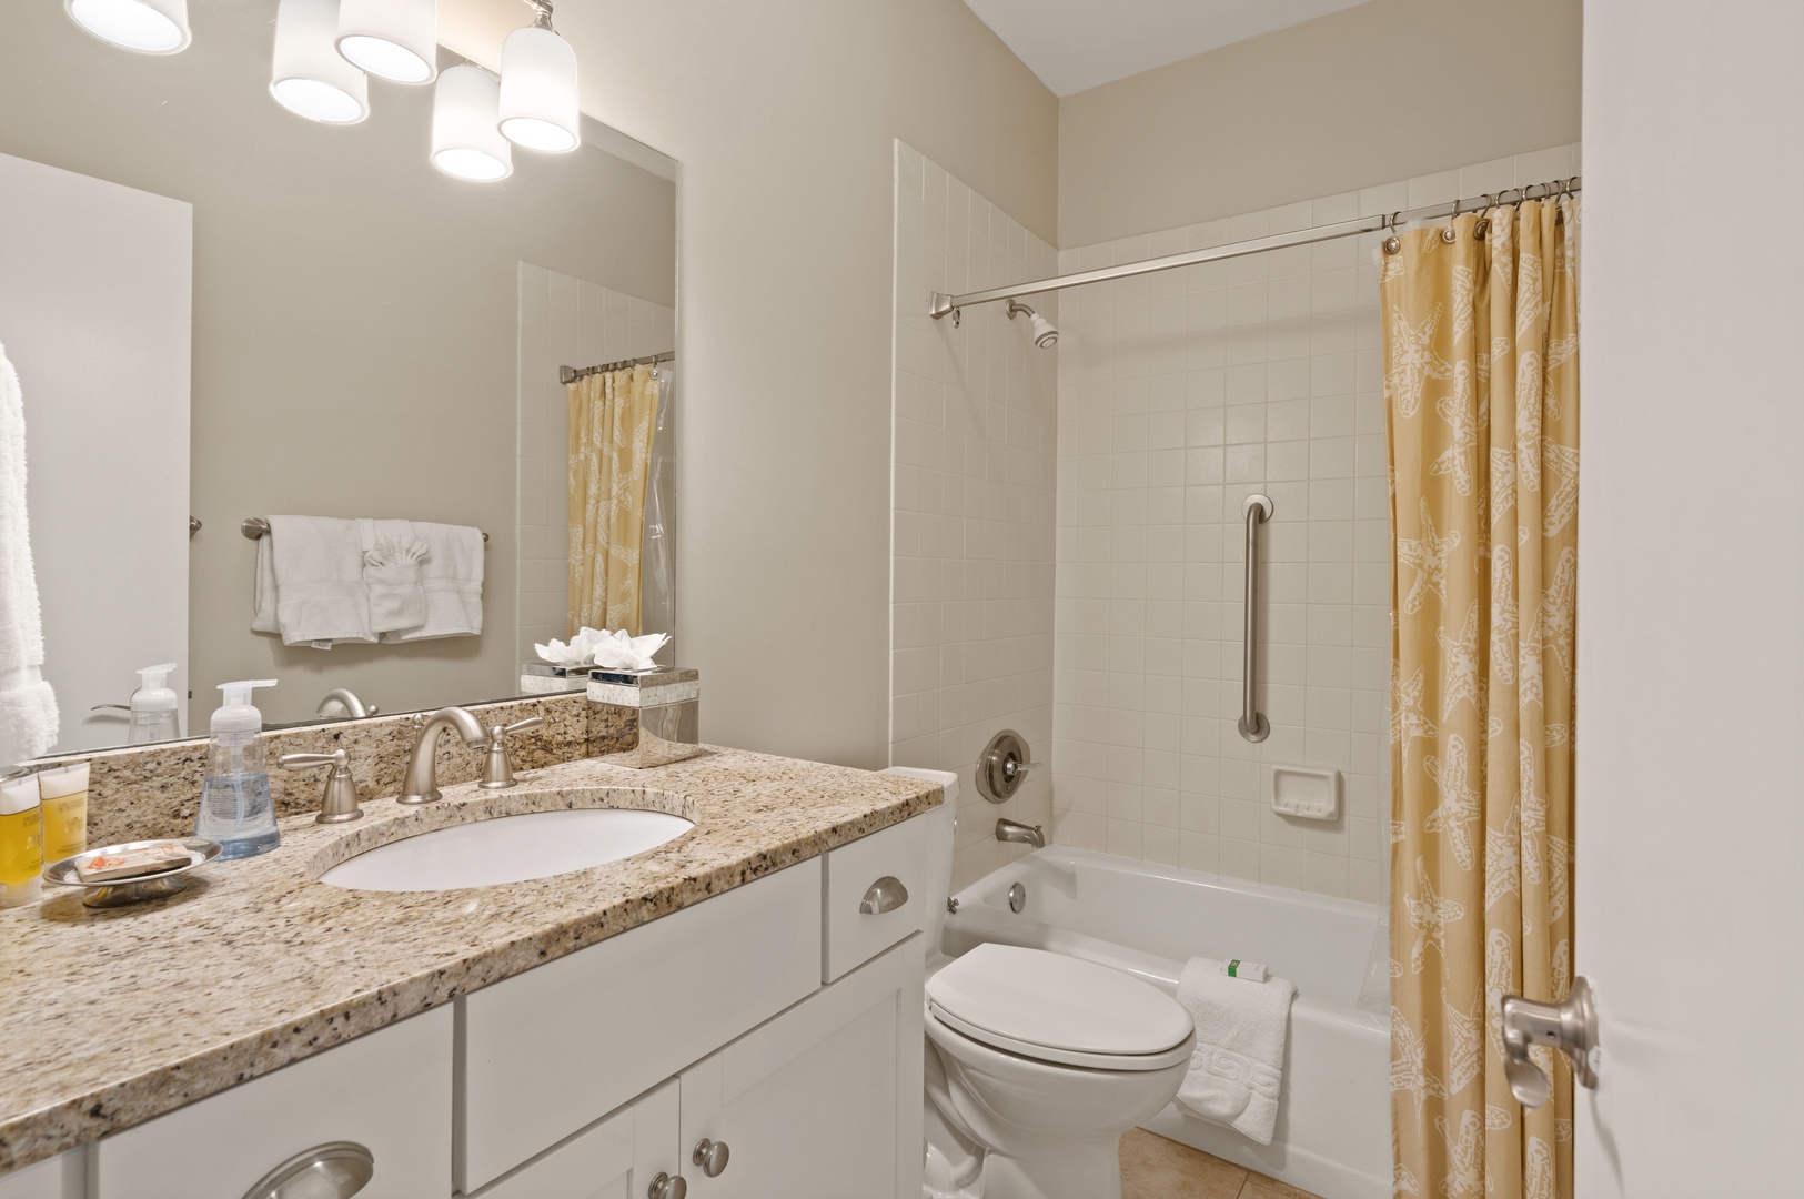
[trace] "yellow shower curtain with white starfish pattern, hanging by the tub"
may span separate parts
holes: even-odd
[[[1573,975],[1577,234],[1524,200],[1382,258],[1398,1195],[1571,1195],[1571,1071],[1517,1105],[1499,1001]]]

